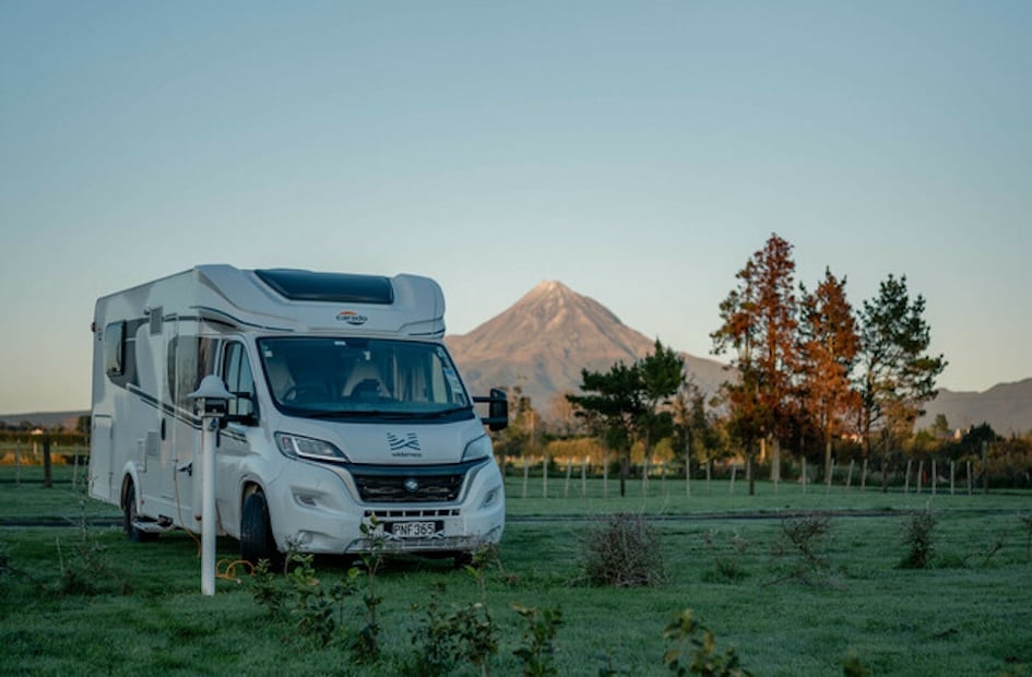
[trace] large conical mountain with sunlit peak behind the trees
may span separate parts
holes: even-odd
[[[519,385],[543,414],[556,393],[578,391],[581,369],[607,371],[618,360],[633,363],[655,344],[598,301],[554,281],[542,282],[468,334],[444,341],[474,393]],[[704,392],[724,381],[721,363],[681,356]]]

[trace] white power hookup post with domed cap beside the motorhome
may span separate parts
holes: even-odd
[[[201,594],[215,594],[215,448],[218,427],[226,415],[229,397],[226,384],[209,375],[188,395],[201,415]]]

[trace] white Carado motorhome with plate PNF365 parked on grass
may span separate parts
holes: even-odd
[[[133,539],[200,532],[190,394],[215,375],[233,394],[217,432],[216,528],[245,559],[360,553],[372,523],[402,551],[462,558],[497,543],[505,494],[484,426],[506,426],[505,393],[471,397],[443,314],[427,277],[230,265],[98,299],[91,496],[122,508]]]

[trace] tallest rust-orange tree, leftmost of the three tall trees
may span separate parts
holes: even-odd
[[[734,352],[737,378],[724,383],[728,427],[746,449],[749,494],[755,492],[756,442],[778,440],[793,421],[794,375],[799,365],[798,310],[792,245],[772,234],[735,276],[738,285],[721,302],[723,324],[710,336],[713,353]],[[779,460],[774,459],[776,478]]]

